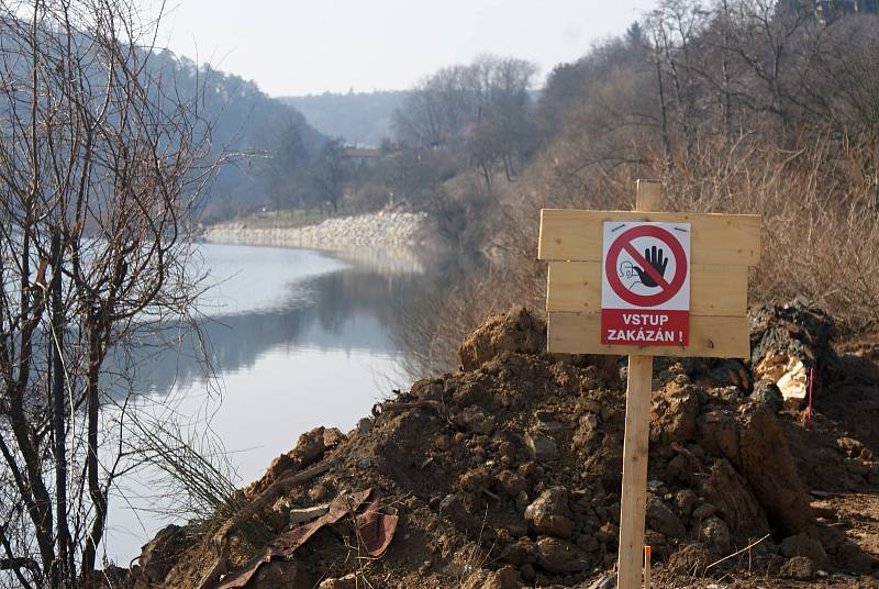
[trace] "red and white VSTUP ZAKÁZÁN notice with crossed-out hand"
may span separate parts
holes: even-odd
[[[601,343],[686,346],[690,224],[605,221]]]

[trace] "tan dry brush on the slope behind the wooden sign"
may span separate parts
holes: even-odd
[[[865,329],[879,320],[877,155],[826,135],[799,143],[783,148],[746,135],[734,144],[698,144],[688,158],[678,154],[670,166],[654,157],[653,165],[580,175],[566,171],[572,162],[538,162],[530,187],[508,200],[514,213],[504,231],[509,243],[520,244],[509,287],[534,302],[535,289],[522,286],[536,274],[539,208],[631,209],[634,179],[660,177],[667,210],[763,215],[753,304],[801,296],[845,330]],[[666,171],[654,171],[659,169]]]

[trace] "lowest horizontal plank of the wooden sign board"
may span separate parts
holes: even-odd
[[[750,332],[746,316],[690,316],[690,345],[621,346],[601,344],[600,313],[549,313],[549,353],[747,358]]]

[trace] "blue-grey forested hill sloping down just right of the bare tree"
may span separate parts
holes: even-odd
[[[269,98],[256,84],[169,52],[154,53],[152,68],[174,75],[181,96],[201,92],[201,116],[212,124],[212,157],[232,155],[205,200],[203,220],[230,219],[275,207],[279,187],[297,181],[302,164],[326,141],[296,109]]]

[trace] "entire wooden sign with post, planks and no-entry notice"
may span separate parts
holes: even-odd
[[[620,589],[649,587],[653,357],[748,357],[748,267],[760,259],[759,216],[654,212],[659,203],[659,184],[638,180],[635,211],[541,211],[548,352],[628,355]]]

